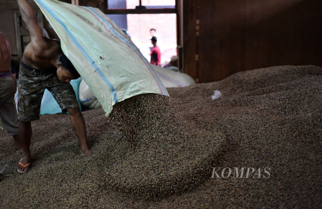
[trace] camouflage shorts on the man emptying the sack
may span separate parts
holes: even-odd
[[[18,120],[38,120],[40,105],[45,89],[48,89],[59,104],[62,112],[78,108],[75,91],[70,83],[62,83],[57,69],[35,70],[21,61],[18,86]]]

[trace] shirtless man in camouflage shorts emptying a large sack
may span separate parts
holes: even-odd
[[[84,118],[69,83],[80,75],[62,53],[60,41],[43,37],[35,13],[26,0],[18,0],[18,5],[31,37],[20,63],[18,86],[19,132],[24,154],[17,171],[26,173],[30,168],[31,121],[39,119],[45,89],[52,93],[62,112],[69,112],[71,126],[81,145],[81,155],[90,156],[91,151],[87,143]]]

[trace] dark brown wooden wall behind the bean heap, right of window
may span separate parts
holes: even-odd
[[[322,66],[320,0],[191,0],[183,13],[183,69],[199,83],[274,65]]]

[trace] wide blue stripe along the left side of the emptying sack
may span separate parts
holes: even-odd
[[[74,44],[77,46],[77,48],[83,53],[83,55],[88,59],[88,61],[90,62],[90,64],[95,68],[95,70],[99,73],[100,77],[103,79],[103,81],[109,86],[110,90],[112,91],[112,95],[114,97],[114,101],[117,103],[118,102],[118,97],[116,95],[114,86],[112,85],[112,83],[109,82],[109,80],[105,77],[105,75],[103,74],[103,72],[99,69],[99,67],[95,64],[95,61],[87,54],[87,52],[81,47],[81,45],[78,43],[78,41],[75,39],[75,37],[71,34],[71,32],[67,29],[66,25],[58,18],[58,16],[52,12],[52,10],[43,3],[42,0],[35,0],[38,1],[43,8],[45,8],[47,10],[47,12],[49,12],[53,18],[55,18],[55,20],[57,22],[59,22],[63,29],[65,30],[65,32],[67,33],[67,35],[69,36],[69,38],[71,38],[71,40],[74,42]]]

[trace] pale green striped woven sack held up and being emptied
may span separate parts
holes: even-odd
[[[143,93],[167,95],[128,36],[97,8],[35,0],[61,39],[64,54],[89,85],[106,116],[116,102]]]

